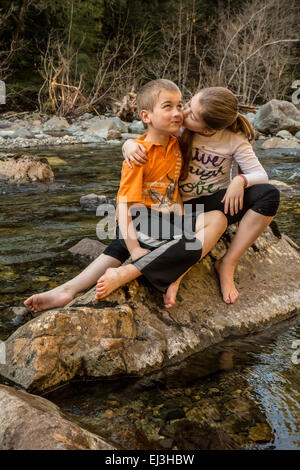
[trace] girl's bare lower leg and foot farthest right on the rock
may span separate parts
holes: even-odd
[[[224,302],[234,304],[239,293],[234,284],[234,271],[239,259],[255,242],[257,237],[271,223],[273,217],[267,217],[249,209],[239,223],[227,253],[216,261],[215,268],[219,274],[221,292]]]

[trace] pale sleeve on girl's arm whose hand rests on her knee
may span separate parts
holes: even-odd
[[[247,187],[268,183],[268,175],[244,133],[231,132],[231,154],[247,178]]]

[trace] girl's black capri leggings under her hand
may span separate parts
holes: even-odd
[[[226,189],[221,189],[210,196],[189,199],[184,202],[184,205],[187,206],[190,204],[192,206],[189,207],[189,210],[194,216],[197,216],[198,213],[197,204],[204,205],[204,212],[219,210],[224,213],[224,203],[221,201],[225,193]],[[239,210],[238,213],[234,215],[230,215],[230,211],[228,210],[227,214],[224,213],[224,215],[227,217],[228,225],[239,222],[248,209],[252,209],[258,214],[273,217],[277,212],[279,202],[280,192],[275,186],[272,184],[254,184],[249,188],[245,188],[243,209]]]

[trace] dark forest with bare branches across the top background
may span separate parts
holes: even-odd
[[[185,98],[226,86],[248,105],[290,100],[298,24],[296,0],[1,0],[1,111],[103,113],[155,78]]]

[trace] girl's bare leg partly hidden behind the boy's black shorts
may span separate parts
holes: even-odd
[[[221,211],[205,212],[204,216],[198,216],[196,220],[195,231],[196,237],[202,242],[202,255],[201,259],[210,252],[215,246],[219,238],[227,228],[227,218]],[[167,292],[163,295],[166,308],[171,308],[175,305],[177,291],[180,286],[182,278],[192,269],[191,266],[182,276],[173,282]]]

